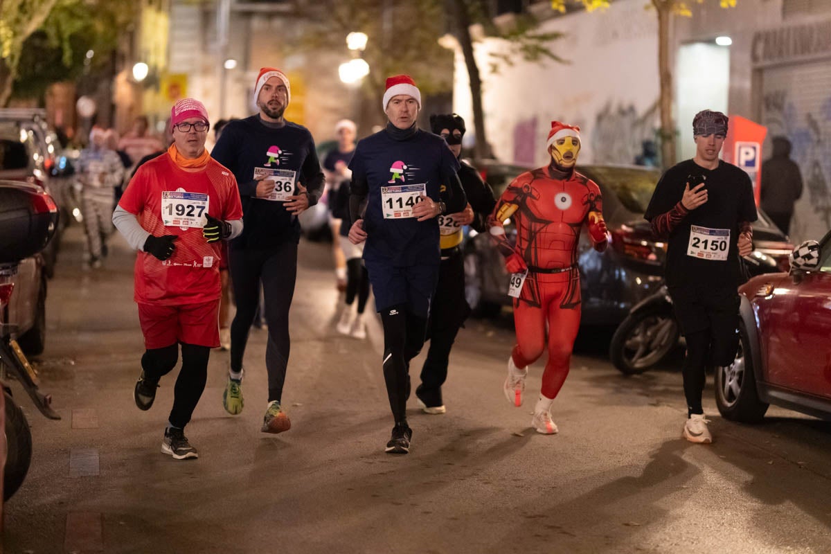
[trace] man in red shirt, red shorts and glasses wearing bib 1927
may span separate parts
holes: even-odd
[[[182,369],[162,452],[198,458],[184,426],[208,377],[210,349],[219,346],[220,240],[237,236],[243,210],[234,175],[204,149],[208,112],[191,98],[170,111],[174,143],[136,172],[113,213],[133,248],[135,302],[145,336],[135,404],[150,409],[162,376],[182,345]]]

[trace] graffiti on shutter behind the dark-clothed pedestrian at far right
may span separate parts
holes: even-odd
[[[802,172],[804,190],[794,209],[791,235],[797,240],[819,238],[831,228],[831,96],[822,102],[819,113],[800,113],[787,90],[767,91],[763,102],[768,135],[790,140],[791,158]]]

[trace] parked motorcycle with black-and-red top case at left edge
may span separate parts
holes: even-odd
[[[3,500],[12,497],[26,478],[32,460],[32,433],[9,386],[16,380],[48,419],[61,419],[52,409],[52,396],[39,389],[37,372],[15,337],[18,327],[9,318],[9,300],[19,262],[42,251],[57,228],[57,205],[41,187],[0,181],[0,386],[5,429]]]

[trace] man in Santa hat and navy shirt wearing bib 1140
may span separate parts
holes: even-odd
[[[421,94],[410,76],[386,80],[383,108],[386,128],[361,140],[349,164],[349,239],[366,240],[364,262],[384,326],[384,380],[396,421],[386,452],[407,453],[410,360],[424,346],[439,277],[435,218],[461,212],[467,199],[456,175],[459,162],[445,141],[416,125]]]

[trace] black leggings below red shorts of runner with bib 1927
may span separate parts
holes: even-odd
[[[208,346],[182,343],[182,369],[176,378],[173,390],[173,408],[170,409],[170,424],[179,429],[190,421],[196,404],[208,380]],[[179,345],[153,348],[141,356],[141,369],[148,380],[160,380],[170,373],[179,361]]]

